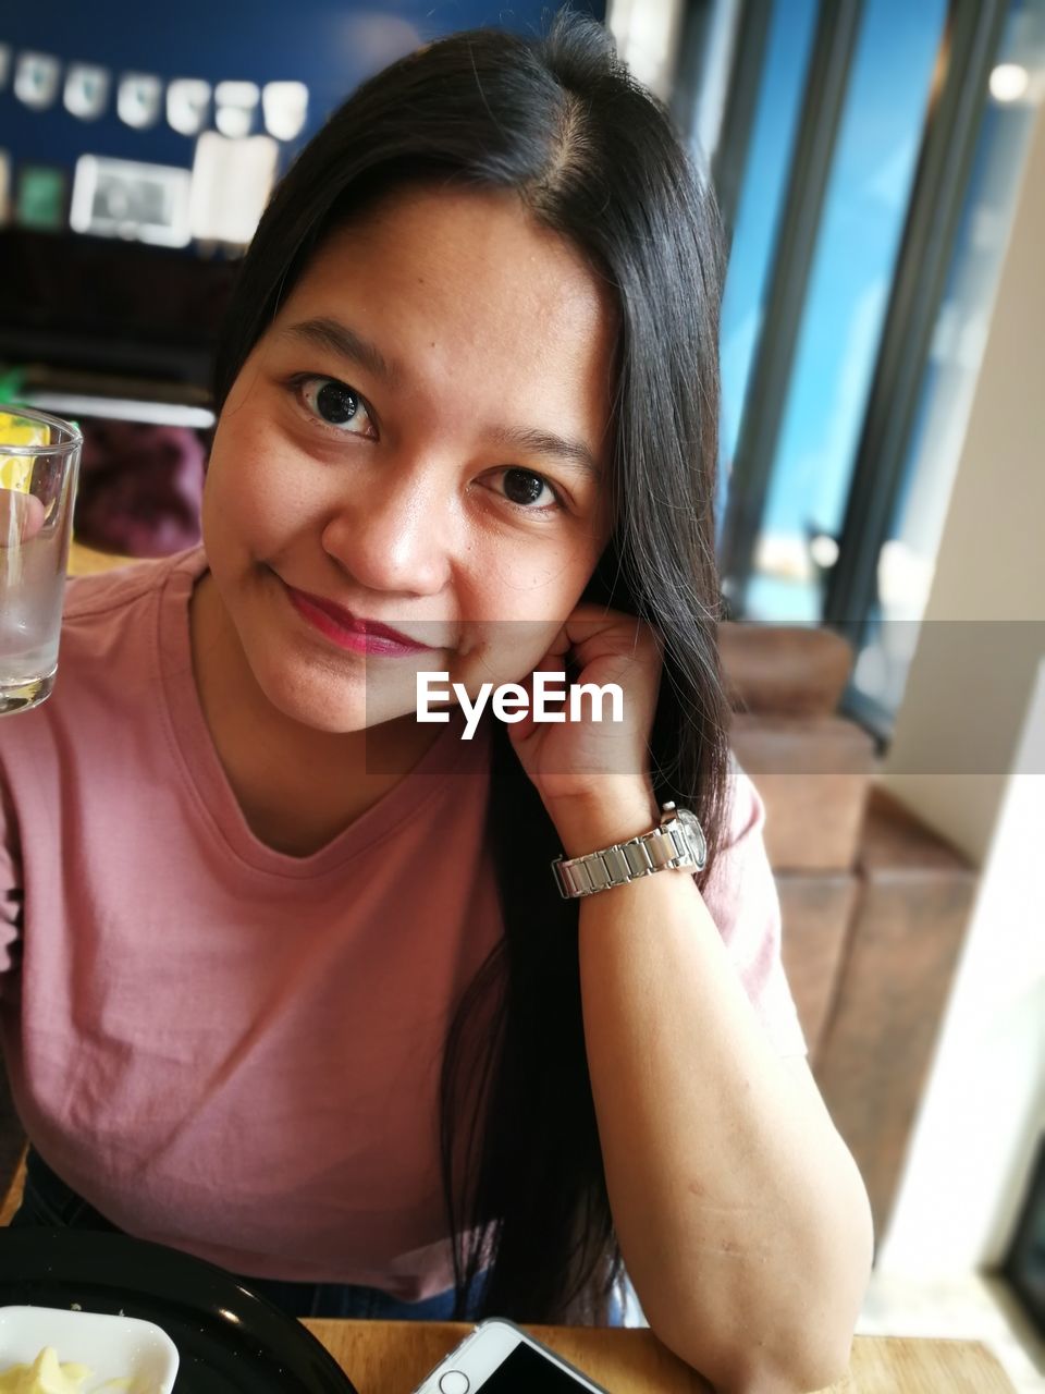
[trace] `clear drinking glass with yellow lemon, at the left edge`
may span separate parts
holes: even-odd
[[[68,421],[0,403],[0,717],[54,686],[82,443]]]

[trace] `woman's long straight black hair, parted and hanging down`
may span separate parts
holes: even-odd
[[[663,107],[596,22],[560,14],[542,39],[495,29],[442,39],[334,112],[247,252],[219,343],[216,404],[329,233],[433,180],[516,191],[521,212],[570,241],[613,290],[614,526],[585,598],[641,616],[663,638],[651,774],[658,800],[701,820],[704,888],[729,793],[713,523],[723,243]],[[578,905],[552,882],[555,827],[497,723],[492,739],[488,831],[504,935],[460,1002],[442,1075],[456,1315],[601,1320],[621,1256],[584,1044]]]

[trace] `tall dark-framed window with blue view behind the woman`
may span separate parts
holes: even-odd
[[[709,100],[688,102],[695,145],[715,138],[708,164],[732,234],[718,538],[727,611],[840,629],[856,658],[843,710],[883,739],[932,577],[1027,103],[1042,85],[1044,8],[694,0],[701,22],[683,39],[705,46],[705,70],[716,35],[729,50],[719,130]],[[1009,71],[1007,106],[988,100],[999,61],[1020,56],[1024,96],[1012,96]],[[684,50],[683,79],[698,67]],[[690,82],[713,86],[706,71]],[[674,105],[686,113],[686,92]]]

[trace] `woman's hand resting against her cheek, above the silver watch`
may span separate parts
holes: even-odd
[[[660,637],[634,615],[584,602],[568,616],[535,672],[560,673],[555,686],[567,687],[567,662],[578,669],[573,686],[620,687],[621,719],[612,719],[613,704],[606,694],[602,721],[595,721],[599,698],[592,701],[584,694],[578,718],[571,721],[567,689],[567,701],[559,708],[564,721],[535,721],[531,675],[520,683],[529,696],[529,710],[522,721],[509,725],[522,768],[556,821],[567,809],[605,806],[607,800],[628,800],[647,809],[647,817],[652,809],[649,732],[663,666]]]

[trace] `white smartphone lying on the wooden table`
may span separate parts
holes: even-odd
[[[414,1394],[580,1394],[581,1390],[609,1394],[514,1322],[490,1317],[450,1351]]]

